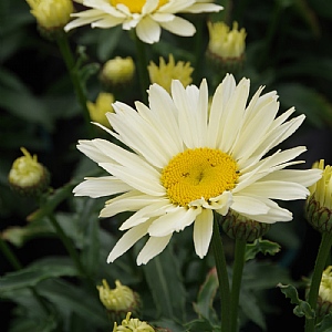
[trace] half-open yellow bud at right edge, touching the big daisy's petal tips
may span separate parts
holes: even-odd
[[[309,224],[320,232],[332,232],[332,167],[324,167],[324,160],[313,164],[312,168],[323,170],[321,179],[309,187],[310,196],[305,203]]]

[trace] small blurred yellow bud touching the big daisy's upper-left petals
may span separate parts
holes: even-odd
[[[106,113],[114,112],[112,107],[114,103],[114,96],[112,93],[101,92],[95,103],[87,102],[86,106],[92,121],[97,122],[104,126],[110,126]]]

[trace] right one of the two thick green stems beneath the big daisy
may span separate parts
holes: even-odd
[[[238,309],[239,309],[242,272],[245,267],[246,245],[247,242],[245,240],[236,239],[235,261],[232,268],[232,282],[231,282],[231,300],[230,300],[231,332],[236,332],[238,326]]]

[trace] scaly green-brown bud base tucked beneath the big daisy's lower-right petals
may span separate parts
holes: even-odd
[[[271,225],[248,219],[234,210],[229,210],[221,219],[220,226],[231,239],[252,242],[262,237],[270,229]]]

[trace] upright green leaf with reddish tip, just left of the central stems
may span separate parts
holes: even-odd
[[[212,304],[218,287],[217,271],[212,269],[199,289],[197,302],[194,303],[194,309],[199,318],[207,319],[210,322],[217,322],[218,318]]]

